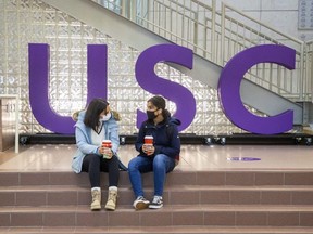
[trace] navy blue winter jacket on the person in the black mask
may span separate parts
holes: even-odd
[[[135,144],[136,150],[140,152],[140,155],[146,155],[142,152],[145,135],[153,135],[154,155],[165,154],[168,157],[177,159],[180,153],[180,139],[177,129],[179,125],[180,120],[174,117],[167,117],[156,126],[153,121],[143,121]]]

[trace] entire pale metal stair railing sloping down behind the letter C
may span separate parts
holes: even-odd
[[[92,1],[109,2],[108,0]],[[114,1],[110,1],[110,4],[114,5],[115,13],[177,44],[192,49],[193,53],[221,66],[224,66],[236,53],[251,46],[275,43],[295,49],[297,63],[295,70],[271,64],[270,73],[267,72],[268,66],[260,65],[256,68],[259,73],[253,74],[254,70],[251,68],[246,75],[248,79],[250,77],[251,81],[292,101],[312,101],[313,88],[312,84],[308,87],[308,83],[312,83],[309,79],[312,76],[309,76],[308,70],[312,70],[313,65],[309,61],[312,56],[308,56],[308,54],[311,55],[313,46],[309,47],[303,41],[283,34],[225,3],[222,3],[222,10],[217,12],[216,0],[211,0],[211,6],[200,0],[130,0],[118,1],[118,3],[121,4],[114,5]],[[138,5],[143,8],[138,11]],[[234,17],[234,14],[237,14],[238,17]],[[243,20],[240,22],[239,18]],[[175,26],[175,24],[177,25]],[[249,24],[262,28],[263,32],[249,26]],[[236,25],[235,29],[231,28],[234,25]],[[175,32],[173,28],[183,29],[178,34],[178,30]],[[188,31],[185,28],[188,28]],[[249,31],[253,38],[245,37],[240,30]],[[265,34],[264,30],[268,32]]]

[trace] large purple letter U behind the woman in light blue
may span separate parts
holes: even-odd
[[[74,133],[74,121],[70,116],[60,116],[49,104],[49,46],[28,46],[29,101],[37,121],[57,133]],[[88,46],[87,103],[93,98],[107,98],[107,46]]]

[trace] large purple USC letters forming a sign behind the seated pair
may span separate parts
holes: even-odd
[[[29,53],[29,100],[33,114],[45,128],[57,133],[74,133],[74,121],[70,116],[60,116],[49,104],[49,46],[28,46]],[[93,98],[108,98],[105,44],[87,47],[87,103]],[[135,67],[139,86],[153,94],[161,94],[176,104],[174,116],[181,120],[179,131],[186,129],[196,115],[196,100],[184,86],[155,75],[159,62],[171,62],[192,69],[192,51],[175,44],[158,44],[143,51]],[[238,53],[222,70],[218,95],[225,115],[239,128],[260,134],[275,134],[292,129],[292,110],[277,116],[258,117],[248,112],[240,99],[240,81],[245,73],[258,63],[277,63],[295,68],[296,52],[281,46],[259,46]],[[210,74],[208,74],[209,79]],[[110,100],[110,99],[109,99]],[[137,110],[137,127],[146,118]]]

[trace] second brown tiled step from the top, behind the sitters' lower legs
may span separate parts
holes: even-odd
[[[145,191],[147,198],[152,197],[152,187]],[[88,205],[90,188],[74,185],[2,186],[0,196],[0,206]],[[163,197],[170,205],[313,205],[313,186],[172,186],[166,188]],[[102,190],[102,198],[107,198],[107,190]],[[129,205],[133,202],[133,190],[118,187],[118,203]]]

